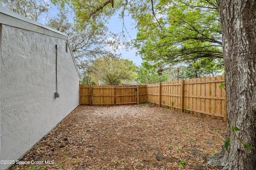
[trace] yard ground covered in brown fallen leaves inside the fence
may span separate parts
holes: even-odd
[[[78,106],[20,160],[30,164],[10,169],[214,169],[198,164],[221,149],[225,131],[219,119],[162,107]]]

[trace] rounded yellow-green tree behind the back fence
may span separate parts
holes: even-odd
[[[135,80],[136,65],[120,56],[99,57],[92,64],[91,77],[94,82],[102,81],[107,85],[121,85],[124,81]]]

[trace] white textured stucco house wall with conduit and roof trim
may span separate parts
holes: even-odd
[[[0,61],[0,160],[16,161],[79,105],[80,75],[66,34],[2,7]]]

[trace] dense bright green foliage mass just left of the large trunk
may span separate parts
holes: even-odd
[[[134,7],[135,47],[142,59],[161,67],[197,58],[222,58],[215,0],[160,0]],[[135,11],[138,11],[135,13]]]

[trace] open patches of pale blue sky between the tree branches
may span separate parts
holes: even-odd
[[[50,3],[50,2],[48,2],[48,3]],[[49,11],[49,15],[56,16],[56,14],[58,14],[59,12],[56,9],[56,6],[54,6],[53,4],[51,6],[52,6],[52,10]],[[117,12],[116,16],[113,16],[110,19],[110,21],[108,22],[108,29],[113,33],[120,33],[122,31],[123,21],[120,20],[120,18],[118,18],[118,14],[119,13]],[[44,20],[44,17],[40,17],[39,22],[42,24],[47,23],[47,21]],[[136,29],[134,29],[134,27],[131,25],[132,19],[128,16],[128,17],[124,18],[124,23],[125,23],[126,29],[129,33],[130,37],[136,38]],[[126,32],[125,32],[125,34],[126,34]],[[127,37],[127,39],[130,40],[130,37]],[[113,50],[112,50],[112,52],[114,53]],[[116,54],[122,54],[122,58],[133,61],[137,66],[141,65],[141,63],[142,63],[141,57],[138,55],[136,56],[136,49],[129,49],[127,51],[126,49],[120,48],[119,51],[116,51]]]

